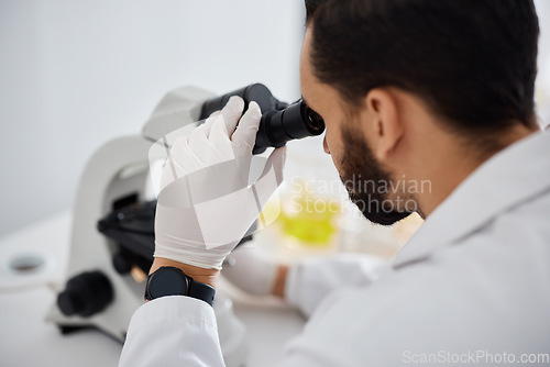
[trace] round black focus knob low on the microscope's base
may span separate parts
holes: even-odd
[[[57,307],[66,316],[87,318],[102,311],[113,299],[109,278],[101,271],[82,273],[73,277],[57,296]]]

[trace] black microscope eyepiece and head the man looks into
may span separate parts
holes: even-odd
[[[298,100],[290,105],[283,103],[260,84],[206,101],[200,119],[222,109],[231,96],[240,96],[245,102],[245,110],[251,101],[255,101],[262,110],[254,154],[260,154],[270,146],[283,146],[292,140],[320,135],[324,131],[324,121],[306,102]]]

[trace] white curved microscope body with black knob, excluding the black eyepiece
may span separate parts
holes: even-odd
[[[128,251],[100,233],[98,221],[112,211],[154,198],[150,175],[152,144],[198,121],[204,102],[212,97],[213,93],[195,87],[168,92],[141,135],[116,138],[88,162],[74,207],[68,281],[65,289],[58,291],[57,302],[46,316],[62,332],[94,326],[120,342],[125,340],[130,319],[144,301],[144,279],[136,275],[141,270],[144,276],[146,264],[142,262],[141,269],[135,264],[128,269],[118,266],[119,255]],[[140,258],[150,256],[152,263],[153,249],[154,245],[143,246]],[[213,308],[226,364],[241,366],[246,357],[244,326],[222,293],[217,294]]]

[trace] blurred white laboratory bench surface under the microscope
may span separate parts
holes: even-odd
[[[0,238],[2,366],[117,366],[119,341],[94,329],[62,335],[57,325],[45,321],[55,302],[53,289],[65,282],[70,222],[69,212],[64,212]],[[40,270],[30,269],[33,262],[42,262]],[[246,327],[248,366],[273,366],[305,319],[279,300],[248,297],[227,281],[220,290],[232,299]]]

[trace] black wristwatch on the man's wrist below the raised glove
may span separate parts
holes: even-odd
[[[216,289],[209,285],[195,281],[182,269],[163,266],[147,277],[145,299],[151,301],[165,296],[188,296],[212,305]]]

